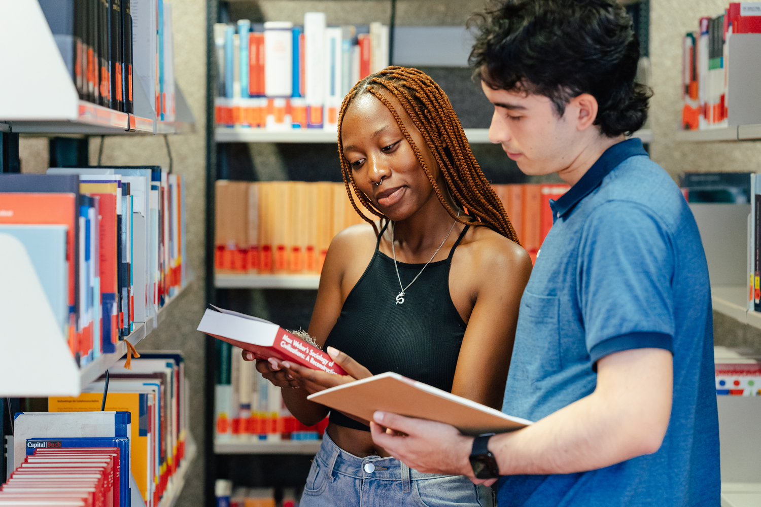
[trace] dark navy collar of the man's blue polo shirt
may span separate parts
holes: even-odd
[[[556,201],[549,201],[552,206],[552,211],[555,211],[555,218],[562,217],[568,213],[578,201],[587,197],[590,192],[600,185],[603,178],[610,173],[619,163],[622,163],[629,157],[635,157],[635,155],[648,156],[648,152],[642,147],[642,141],[638,138],[627,139],[620,143],[613,144],[597,159],[597,162],[581,176],[581,179],[571,187],[568,192],[565,192]]]

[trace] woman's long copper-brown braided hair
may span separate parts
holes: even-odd
[[[444,196],[444,192],[438,187],[431,170],[423,160],[419,148],[412,141],[412,136],[404,126],[399,112],[384,97],[381,88],[393,93],[393,96],[399,100],[402,108],[412,119],[412,123],[419,130],[425,144],[428,145],[435,157],[444,176],[449,194],[456,204],[466,209],[467,216],[473,217],[475,220],[470,221],[467,216],[458,217],[457,212],[452,209]],[[371,93],[391,112],[396,120],[396,125],[399,126],[409,146],[412,147],[420,166],[428,176],[428,181],[433,185],[438,200],[454,220],[473,226],[489,227],[517,244],[521,244],[507,213],[505,213],[505,208],[492,189],[492,185],[489,184],[489,180],[482,173],[481,167],[476,162],[476,157],[473,157],[473,152],[470,151],[470,144],[468,144],[460,120],[457,119],[457,114],[452,109],[447,94],[425,72],[416,68],[405,67],[387,67],[359,81],[344,98],[339,112],[338,153],[341,159],[341,173],[346,192],[349,194],[349,200],[352,201],[355,211],[371,223],[376,235],[378,230],[374,220],[360,211],[355,197],[371,214],[380,217],[380,219],[389,220],[389,218],[375,208],[368,197],[357,188],[352,176],[352,166],[343,153],[341,141],[341,125],[346,109],[349,109],[349,105],[355,97],[363,93]]]

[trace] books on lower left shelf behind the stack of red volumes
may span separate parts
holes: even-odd
[[[103,376],[77,398],[48,398],[47,412],[16,414],[9,468],[40,448],[117,447],[122,499],[113,505],[129,507],[139,495],[155,507],[186,454],[189,391],[182,353],[143,353],[131,364],[120,360],[109,375],[105,403]]]

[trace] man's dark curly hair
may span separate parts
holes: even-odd
[[[590,93],[594,125],[611,138],[631,135],[648,117],[649,87],[635,83],[639,42],[632,18],[613,0],[506,0],[473,14],[474,76],[494,90],[552,100],[558,116]]]

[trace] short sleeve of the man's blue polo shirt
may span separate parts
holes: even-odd
[[[610,353],[673,353],[674,252],[658,217],[641,204],[608,201],[581,231],[578,287],[593,365]]]

